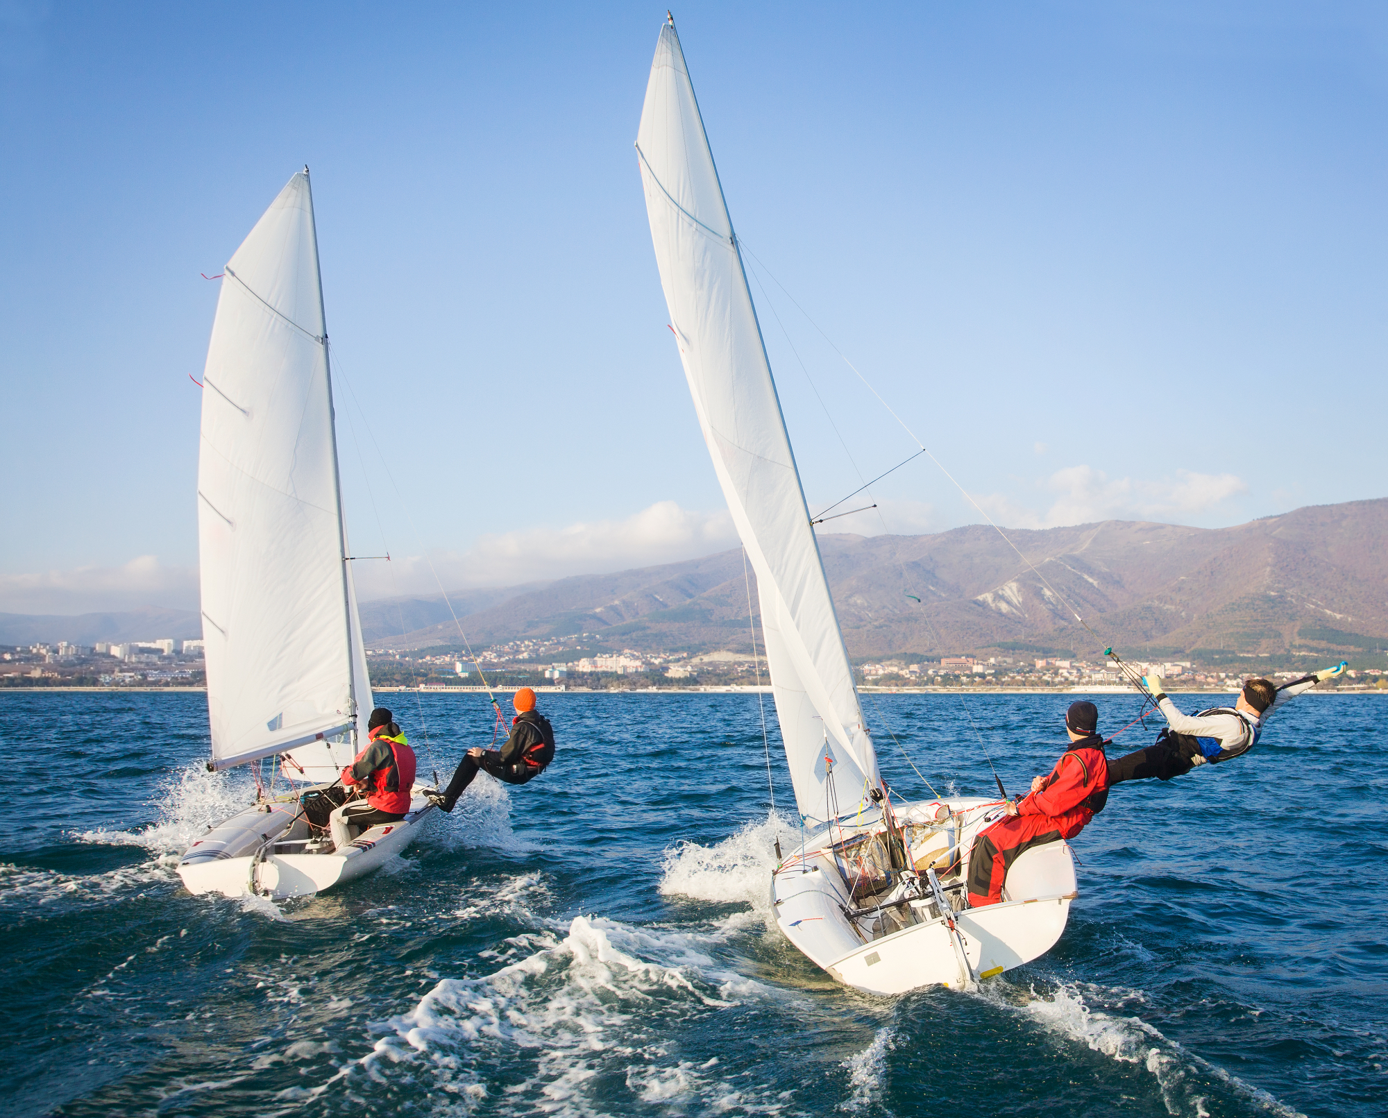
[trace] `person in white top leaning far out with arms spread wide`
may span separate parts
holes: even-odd
[[[1246,753],[1258,745],[1276,710],[1346,667],[1348,663],[1339,663],[1281,687],[1270,680],[1249,680],[1234,706],[1216,706],[1199,714],[1183,714],[1166,695],[1160,677],[1144,676],[1142,685],[1166,717],[1166,730],[1155,745],[1110,760],[1109,786],[1148,777],[1169,781],[1198,764],[1217,764]]]

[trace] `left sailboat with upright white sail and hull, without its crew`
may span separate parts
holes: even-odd
[[[372,710],[307,166],[225,268],[197,504],[208,768],[253,764],[258,775],[278,759],[287,784],[276,795],[257,778],[255,803],[193,842],[179,875],[194,893],[318,893],[403,850],[433,806],[416,784],[403,820],[362,834],[341,807],[321,828],[304,810],[366,743]]]

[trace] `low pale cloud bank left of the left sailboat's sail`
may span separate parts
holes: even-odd
[[[119,567],[0,574],[3,613],[94,613],[167,606],[197,609],[197,569],[142,555]]]

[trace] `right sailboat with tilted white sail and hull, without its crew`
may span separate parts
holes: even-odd
[[[776,714],[802,818],[770,881],[776,922],[851,986],[972,988],[1047,952],[1077,886],[1065,842],[1023,853],[1004,903],[967,907],[974,836],[1001,800],[892,802],[859,706],[741,247],[673,18],[637,133],[661,286],[704,440],[756,592]]]

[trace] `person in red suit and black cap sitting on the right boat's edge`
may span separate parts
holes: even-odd
[[[1024,850],[1074,838],[1108,802],[1109,764],[1099,737],[1099,709],[1091,702],[1070,703],[1065,728],[1070,748],[1048,777],[1031,781],[1031,793],[1008,803],[998,820],[973,842],[969,856],[969,906],[1002,900],[1008,870]]]

